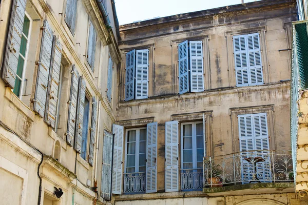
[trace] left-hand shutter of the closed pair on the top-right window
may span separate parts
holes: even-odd
[[[236,86],[249,85],[249,70],[246,35],[233,36]]]

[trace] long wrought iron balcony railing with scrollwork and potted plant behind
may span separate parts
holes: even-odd
[[[254,150],[204,157],[205,188],[294,180],[291,151]]]

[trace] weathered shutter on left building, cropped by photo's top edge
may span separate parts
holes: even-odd
[[[75,32],[76,24],[77,2],[78,0],[67,0],[65,9],[64,20],[73,35]]]

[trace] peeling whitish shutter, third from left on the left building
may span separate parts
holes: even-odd
[[[61,57],[62,57],[62,45],[55,36],[53,36],[52,45],[52,58],[51,58],[51,68],[48,80],[48,90],[47,90],[47,102],[44,120],[52,128],[55,127],[56,113],[57,111],[57,101],[59,94],[60,85],[60,69],[61,69]]]

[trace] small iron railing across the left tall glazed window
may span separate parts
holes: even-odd
[[[124,193],[145,193],[145,172],[124,173]]]

